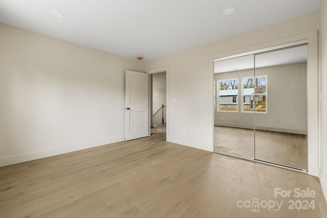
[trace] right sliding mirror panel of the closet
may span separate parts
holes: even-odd
[[[308,169],[307,45],[256,54],[255,78],[255,159]]]

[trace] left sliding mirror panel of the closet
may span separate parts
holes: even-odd
[[[244,92],[243,79],[252,78],[254,55],[214,63],[215,151],[254,159],[253,91]],[[250,93],[252,92],[252,93]],[[252,113],[242,113],[244,107]]]

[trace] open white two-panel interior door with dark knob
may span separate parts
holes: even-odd
[[[149,75],[126,70],[126,140],[149,136]]]

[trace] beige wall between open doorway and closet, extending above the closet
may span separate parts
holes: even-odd
[[[233,54],[233,50],[240,49],[245,52],[249,46],[318,29],[319,12],[315,11],[147,63],[146,70],[164,66],[170,69],[168,140],[213,151],[210,56]],[[183,134],[183,129],[187,134]]]

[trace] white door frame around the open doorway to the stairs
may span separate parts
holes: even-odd
[[[166,72],[166,140],[169,141],[169,66],[160,67],[156,69],[146,70],[147,74],[158,74],[159,72]],[[151,118],[152,114],[151,111],[151,105],[152,105],[152,92],[151,92],[151,84],[152,80],[149,79],[149,136],[151,135]]]

